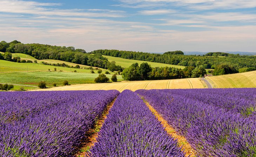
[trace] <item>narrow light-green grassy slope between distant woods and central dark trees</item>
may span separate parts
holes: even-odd
[[[143,63],[143,62],[147,62],[148,64],[151,65],[151,67],[176,67],[176,68],[185,68],[184,66],[176,66],[176,65],[171,65],[171,64],[164,64],[164,63],[155,63],[155,62],[148,62],[148,61],[139,61],[139,60],[129,60],[129,59],[123,59],[120,57],[112,57],[112,56],[105,56],[102,55],[104,57],[106,57],[108,59],[109,62],[111,61],[115,61],[116,65],[120,65],[121,67],[124,68],[128,68],[130,65],[132,65],[133,63]]]

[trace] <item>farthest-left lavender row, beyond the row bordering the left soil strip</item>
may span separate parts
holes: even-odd
[[[63,93],[64,94],[64,93]],[[14,123],[27,116],[37,115],[58,104],[79,97],[79,92],[66,92],[65,96],[58,91],[44,92],[1,92],[0,93],[0,125]],[[89,94],[89,93],[88,93]],[[90,94],[89,94],[90,95]],[[82,94],[83,97],[88,97]]]

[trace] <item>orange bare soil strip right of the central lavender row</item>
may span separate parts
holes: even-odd
[[[144,102],[147,104],[148,108],[151,112],[156,116],[156,118],[161,122],[161,124],[164,127],[164,130],[167,131],[169,135],[174,137],[178,140],[178,145],[182,146],[182,151],[186,153],[186,157],[190,155],[190,157],[195,157],[195,150],[190,146],[190,144],[187,142],[186,138],[180,135],[177,135],[177,132],[167,123],[166,120],[164,120],[161,115],[147,102],[144,100]]]

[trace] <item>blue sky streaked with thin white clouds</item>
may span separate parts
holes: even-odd
[[[1,0],[0,40],[91,52],[256,52],[256,0]]]

